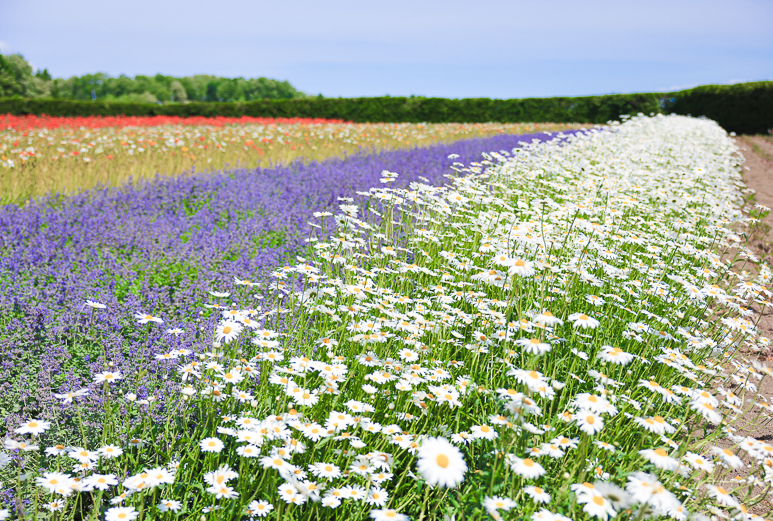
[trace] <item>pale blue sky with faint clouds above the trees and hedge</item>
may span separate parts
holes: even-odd
[[[0,50],[56,77],[265,76],[325,96],[581,96],[770,80],[771,28],[771,0],[0,0]]]

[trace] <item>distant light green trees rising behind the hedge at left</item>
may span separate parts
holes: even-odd
[[[287,81],[269,78],[220,78],[197,74],[112,77],[98,72],[71,78],[52,78],[48,69],[33,72],[20,54],[0,54],[0,97],[55,98],[134,103],[188,101],[252,101],[307,98]]]

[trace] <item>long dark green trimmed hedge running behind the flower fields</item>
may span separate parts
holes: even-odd
[[[53,99],[0,99],[0,114],[50,116],[264,116],[344,119],[356,122],[576,122],[606,123],[622,114],[691,114],[728,131],[762,133],[773,127],[773,81],[705,85],[670,93],[578,98],[307,98],[245,103],[108,103]]]

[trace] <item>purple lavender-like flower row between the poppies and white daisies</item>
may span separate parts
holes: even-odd
[[[105,359],[127,376],[146,371],[147,383],[131,391],[161,397],[152,408],[162,416],[179,393],[165,387],[169,362],[153,355],[209,342],[216,317],[200,314],[204,303],[215,301],[207,291],[234,291],[242,305],[265,291],[266,275],[303,250],[312,212],[337,211],[338,197],[378,186],[383,170],[400,174],[398,186],[420,177],[443,184],[454,161],[469,164],[484,151],[509,151],[533,139],[551,138],[501,135],[159,178],[141,187],[1,208],[0,430],[29,417],[66,422],[71,409],[54,393],[93,386]],[[259,285],[238,293],[234,277]],[[107,308],[85,307],[86,300]],[[157,315],[164,324],[139,326],[137,312]],[[178,327],[185,332],[166,333]],[[95,428],[99,396],[92,392],[84,402],[84,420]]]

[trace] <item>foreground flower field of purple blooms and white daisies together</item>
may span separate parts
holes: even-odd
[[[762,519],[735,145],[555,137],[2,208],[0,517]]]

